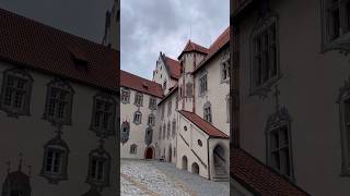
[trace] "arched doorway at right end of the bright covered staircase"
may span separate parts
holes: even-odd
[[[214,176],[226,177],[229,172],[226,171],[228,158],[225,157],[225,149],[220,144],[215,146],[213,150],[214,160]]]

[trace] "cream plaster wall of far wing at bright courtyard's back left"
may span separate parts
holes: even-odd
[[[120,158],[129,158],[129,159],[144,159],[144,151],[147,149],[147,144],[144,143],[144,136],[145,136],[145,130],[149,127],[148,125],[148,118],[149,114],[153,113],[155,117],[155,122],[159,121],[159,117],[156,114],[156,110],[151,110],[149,108],[150,102],[150,96],[148,94],[143,95],[143,105],[142,107],[137,107],[133,105],[135,102],[135,95],[136,90],[130,89],[130,101],[129,103],[122,103],[120,102],[120,127],[121,123],[125,121],[128,121],[130,124],[130,132],[129,132],[129,140],[125,144],[120,143]],[[156,98],[156,102],[160,101],[160,98]],[[133,113],[136,111],[140,110],[142,113],[141,124],[135,124],[133,123]],[[152,142],[158,139],[155,125],[152,126],[153,128],[153,136]],[[130,154],[130,146],[132,144],[136,144],[137,147],[137,154],[132,155]],[[151,144],[150,146],[154,146],[154,144]],[[154,151],[153,151],[154,154]]]

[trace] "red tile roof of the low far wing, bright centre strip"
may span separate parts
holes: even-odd
[[[120,86],[152,96],[163,97],[162,85],[120,70]]]

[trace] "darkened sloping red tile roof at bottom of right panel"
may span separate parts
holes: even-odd
[[[230,149],[231,176],[247,191],[261,196],[308,196],[275,170],[241,148]]]

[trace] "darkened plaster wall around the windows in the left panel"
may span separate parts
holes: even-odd
[[[11,64],[0,62],[0,85],[2,85],[3,71],[14,68]],[[88,176],[89,152],[98,146],[95,133],[89,130],[93,96],[98,89],[71,82],[74,89],[72,106],[72,126],[62,127],[62,139],[68,144],[70,154],[68,158],[68,180],[59,184],[49,184],[39,175],[43,164],[44,145],[56,136],[49,122],[44,121],[43,113],[46,101],[47,84],[55,77],[30,70],[34,78],[31,117],[8,118],[0,110],[0,130],[3,134],[0,142],[0,182],[7,176],[7,161],[11,162],[11,172],[19,166],[19,154],[23,154],[24,164],[22,171],[27,173],[27,166],[32,166],[31,186],[33,196],[61,196],[82,195],[90,189],[85,183]],[[117,100],[117,99],[116,99]],[[115,195],[117,189],[116,176],[116,138],[105,140],[105,148],[112,156],[110,187],[103,191],[103,195]],[[1,186],[2,189],[2,186]]]

